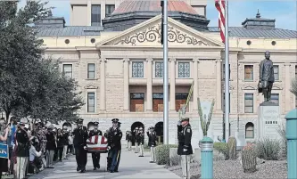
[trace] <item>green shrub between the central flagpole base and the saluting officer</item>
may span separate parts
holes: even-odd
[[[177,145],[168,144],[168,145],[159,145],[156,147],[156,163],[158,165],[169,165],[169,150],[170,148],[177,148]]]

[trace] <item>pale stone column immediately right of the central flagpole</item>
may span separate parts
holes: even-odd
[[[176,110],[176,59],[170,58],[170,104],[169,110]]]

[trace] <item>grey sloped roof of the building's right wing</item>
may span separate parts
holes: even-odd
[[[210,32],[219,32],[218,27],[209,27]],[[250,38],[297,38],[297,31],[275,28],[275,29],[247,29],[243,27],[229,27],[229,37]]]

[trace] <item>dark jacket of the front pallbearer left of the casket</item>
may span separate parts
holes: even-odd
[[[87,127],[77,127],[73,131],[74,139],[73,139],[73,145],[75,148],[84,147],[87,146]]]

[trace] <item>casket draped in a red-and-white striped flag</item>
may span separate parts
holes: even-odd
[[[102,135],[94,135],[87,139],[88,152],[107,152],[107,138]]]

